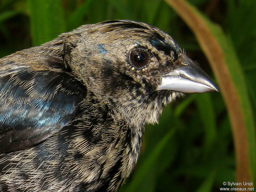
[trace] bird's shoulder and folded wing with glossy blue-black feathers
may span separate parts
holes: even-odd
[[[76,117],[86,97],[62,58],[28,53],[0,59],[0,152],[44,141]]]

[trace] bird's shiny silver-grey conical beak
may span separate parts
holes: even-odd
[[[158,90],[173,90],[183,93],[218,91],[211,78],[186,55],[181,56],[181,65],[162,76]]]

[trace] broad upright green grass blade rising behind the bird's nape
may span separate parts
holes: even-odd
[[[65,32],[61,0],[27,0],[33,46],[56,38]]]

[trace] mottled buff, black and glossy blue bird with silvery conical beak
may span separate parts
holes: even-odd
[[[218,91],[146,23],[78,27],[0,59],[0,191],[116,192],[145,124],[186,93]]]

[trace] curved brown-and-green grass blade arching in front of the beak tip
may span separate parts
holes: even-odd
[[[255,122],[244,74],[232,41],[184,0],[165,0],[195,33],[219,82],[234,135],[237,181],[255,181]]]

